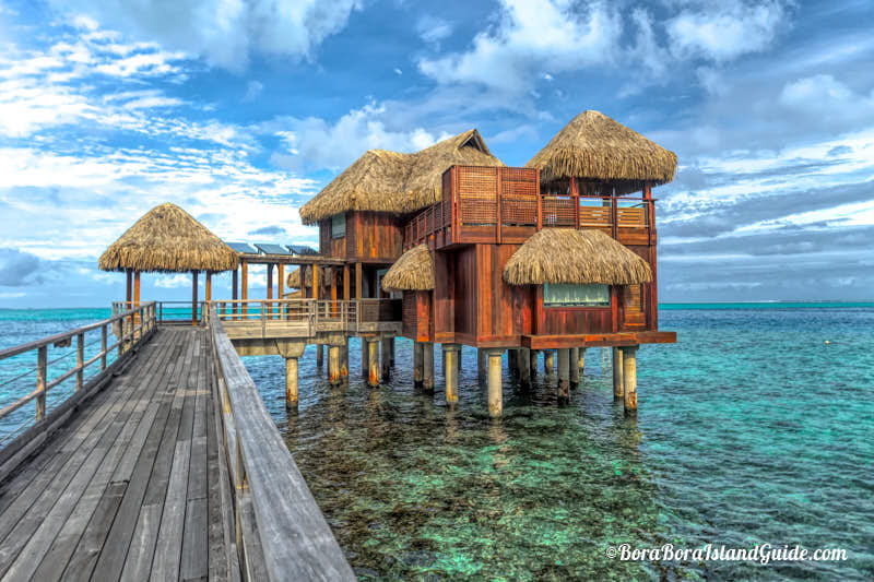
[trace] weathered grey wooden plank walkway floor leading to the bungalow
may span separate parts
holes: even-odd
[[[160,329],[0,484],[0,580],[228,578],[209,341]]]

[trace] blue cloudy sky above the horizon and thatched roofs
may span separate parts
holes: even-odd
[[[586,109],[677,154],[661,301],[871,300],[873,29],[870,0],[0,0],[0,308],[121,299],[97,259],[163,202],[317,246],[298,209],[366,150],[477,128],[521,166]]]

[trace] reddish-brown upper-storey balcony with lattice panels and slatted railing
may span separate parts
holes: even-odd
[[[542,228],[600,228],[625,245],[654,244],[653,200],[642,197],[542,194],[538,170],[453,166],[442,200],[415,215],[404,250],[472,244],[521,244]]]

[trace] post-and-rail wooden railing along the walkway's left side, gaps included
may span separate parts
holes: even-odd
[[[0,407],[0,420],[13,427],[0,433],[0,475],[39,446],[149,337],[155,313],[154,301],[143,302],[114,310],[109,319],[0,351],[0,393],[14,397],[23,392]],[[25,414],[23,407],[31,402],[34,414]]]

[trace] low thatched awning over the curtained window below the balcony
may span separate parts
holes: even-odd
[[[649,264],[601,230],[544,228],[529,238],[504,268],[510,285],[652,281]]]

